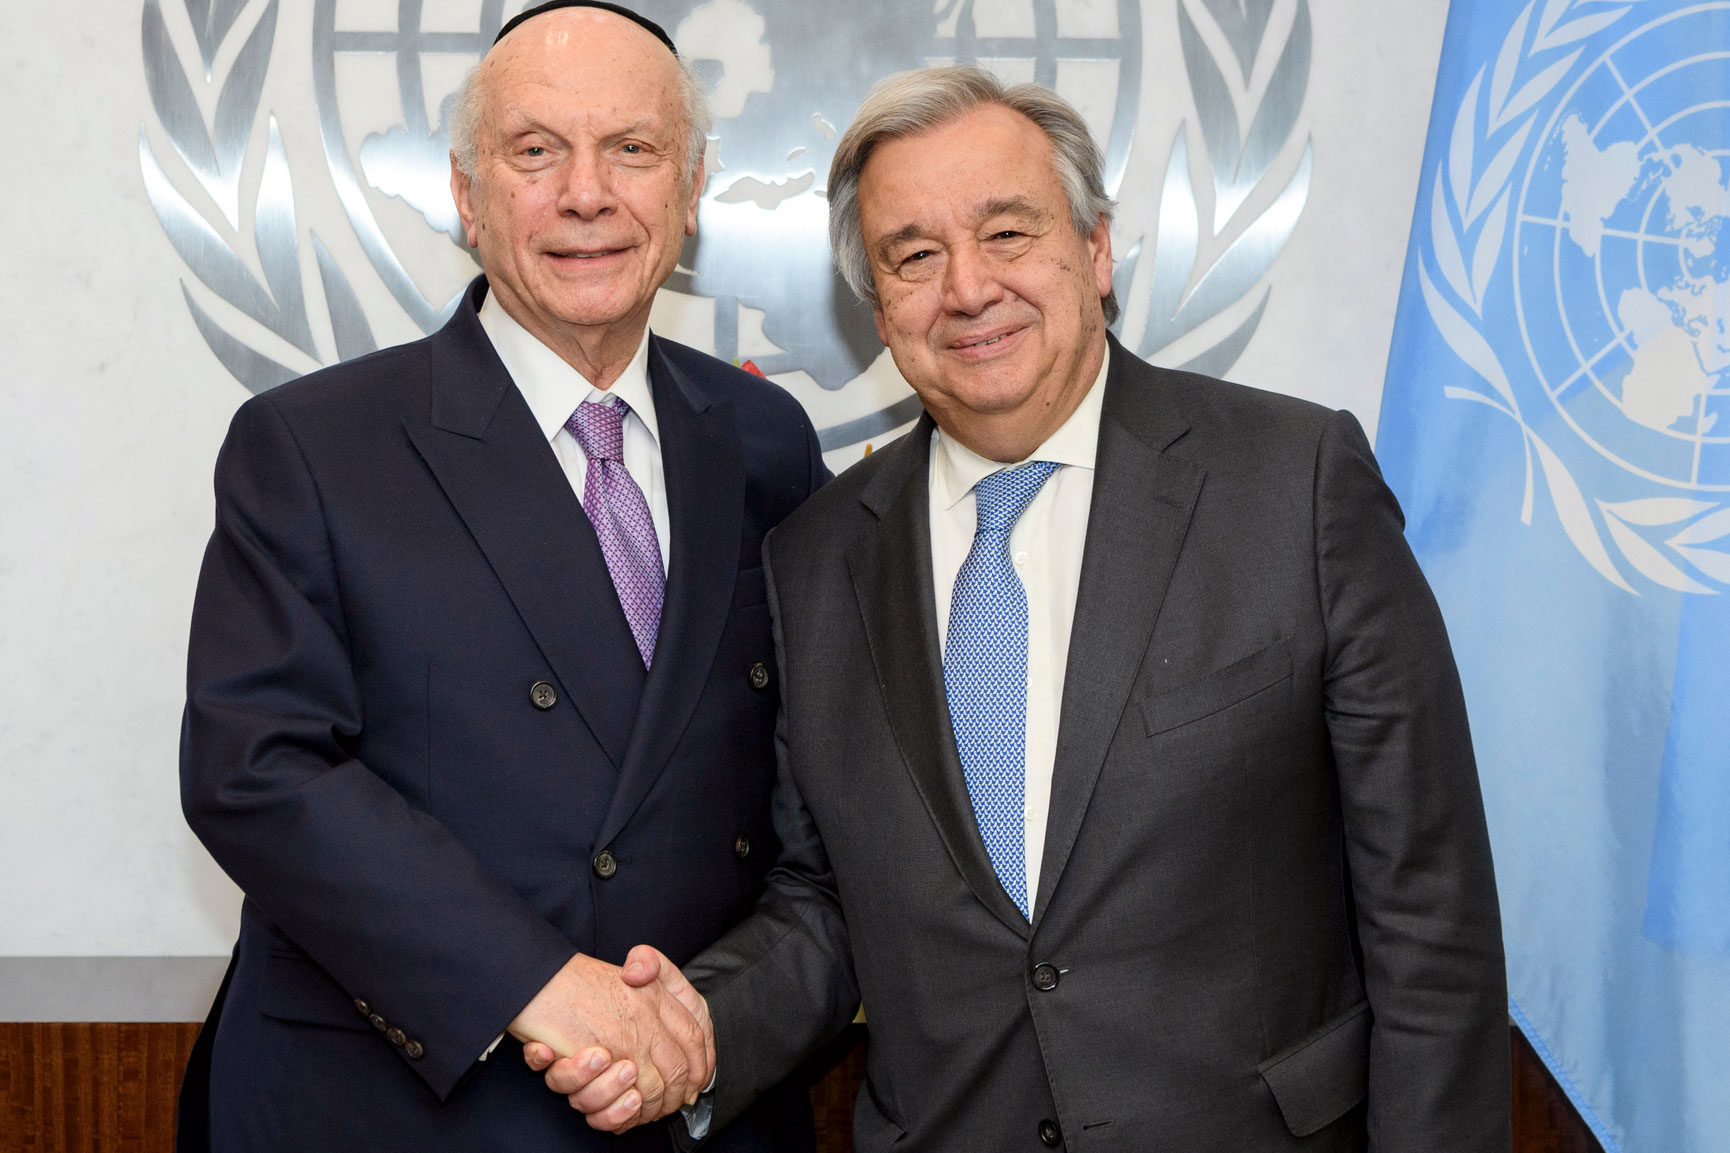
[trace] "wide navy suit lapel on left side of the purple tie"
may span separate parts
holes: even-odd
[[[438,336],[426,421],[403,417],[566,696],[625,763],[644,667],[595,530],[522,395],[493,353],[476,282]],[[597,596],[606,590],[607,596]],[[524,680],[522,692],[529,684]]]

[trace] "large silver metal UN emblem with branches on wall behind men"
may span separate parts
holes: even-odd
[[[263,325],[311,364],[377,346],[381,286],[415,331],[431,332],[448,315],[476,272],[448,194],[450,93],[503,21],[526,7],[453,0],[436,5],[434,24],[420,0],[310,0],[310,19],[284,16],[279,29],[280,3],[301,10],[294,0],[144,3],[156,138],[173,149],[170,156],[152,144],[149,123],[140,130],[145,190],[202,284],[194,291],[182,282],[194,324],[253,391],[298,369],[284,364],[292,357],[244,339],[220,319],[225,312]],[[948,61],[1045,83],[1088,114],[1104,144],[1107,190],[1119,194],[1142,95],[1142,0],[638,7],[704,69],[716,113],[699,237],[687,242],[652,324],[721,358],[749,360],[789,388],[811,412],[825,450],[862,450],[919,415],[870,312],[829,258],[822,182],[841,128],[872,83]],[[266,73],[301,59],[279,31],[310,45],[306,87],[324,173],[291,171],[277,118],[263,109]],[[1175,31],[1195,116],[1171,144],[1157,196],[1119,208],[1116,232],[1128,242],[1119,242],[1118,294],[1124,303],[1131,291],[1147,300],[1137,324],[1119,322],[1133,331],[1119,334],[1150,358],[1178,350],[1185,367],[1223,374],[1261,320],[1272,291],[1266,272],[1308,197],[1310,144],[1299,142],[1298,125],[1310,5],[1182,0]],[[178,178],[163,161],[178,164]],[[332,225],[346,227],[355,242],[339,248],[358,248],[363,261],[339,261],[296,220],[298,189],[303,203],[308,190],[334,192],[341,216],[317,227],[327,235]],[[303,248],[317,268],[306,284]],[[374,301],[370,320],[363,296]],[[1216,317],[1225,320],[1204,327]],[[1197,331],[1214,329],[1197,343]]]

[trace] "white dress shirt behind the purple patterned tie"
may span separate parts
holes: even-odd
[[[583,483],[588,478],[588,454],[564,422],[585,400],[611,405],[619,398],[631,407],[631,414],[625,417],[625,471],[649,502],[649,518],[661,544],[661,571],[666,573],[670,557],[666,473],[661,469],[661,428],[656,422],[654,393],[649,388],[649,329],[644,329],[637,355],[625,365],[612,388],[595,388],[564,357],[517,324],[493,293],[481,301],[481,327],[486,331],[486,339],[493,341],[493,351],[505,362],[505,372],[522,393],[522,400],[529,402],[529,412],[535,414],[535,422],[559,457],[559,467],[564,469],[578,500],[583,499]]]

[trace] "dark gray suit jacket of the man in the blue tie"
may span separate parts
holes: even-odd
[[[784,852],[687,968],[718,1120],[863,997],[860,1153],[1507,1150],[1465,710],[1356,421],[1112,346],[1031,924],[945,705],[929,433],[766,544]]]

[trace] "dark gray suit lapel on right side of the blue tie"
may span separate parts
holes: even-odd
[[[1112,341],[1035,923],[1069,864],[1201,493],[1201,469],[1164,452],[1185,429],[1157,372]]]

